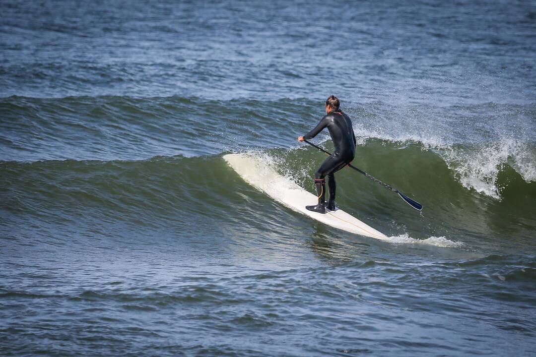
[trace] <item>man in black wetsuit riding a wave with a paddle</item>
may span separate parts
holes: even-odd
[[[352,121],[350,118],[339,109],[340,102],[336,96],[331,95],[326,100],[326,113],[318,125],[303,136],[298,136],[298,141],[308,140],[314,138],[325,127],[331,134],[331,140],[335,146],[335,151],[330,157],[320,165],[320,168],[315,173],[315,185],[316,192],[318,194],[318,203],[315,206],[306,206],[306,208],[313,212],[325,213],[325,199],[326,193],[326,181],[324,179],[327,176],[327,187],[330,189],[330,199],[327,202],[327,209],[330,211],[335,210],[335,172],[348,165],[355,156],[355,135],[352,128]]]

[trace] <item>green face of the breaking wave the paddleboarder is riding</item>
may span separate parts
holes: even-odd
[[[314,171],[324,157],[309,147],[250,154],[311,192]],[[338,204],[379,224],[378,230],[384,233],[410,233],[418,239],[448,236],[470,246],[483,244],[487,249],[496,242],[496,250],[492,250],[496,254],[503,251],[504,239],[510,242],[510,252],[525,249],[523,244],[533,244],[528,237],[536,229],[532,214],[536,209],[536,184],[527,183],[510,166],[505,166],[497,176],[496,184],[503,187],[501,199],[497,200],[468,190],[452,177],[452,170],[440,156],[423,150],[422,145],[401,147],[370,140],[367,145],[358,146],[356,162],[363,170],[396,183],[401,192],[425,204],[422,214],[415,214],[381,185],[351,170],[340,172]],[[48,223],[80,219],[98,222],[114,216],[148,229],[163,228],[169,219],[178,219],[190,225],[191,234],[195,234],[199,227],[191,222],[204,224],[210,217],[223,224],[229,219],[233,204],[244,203],[242,194],[239,198],[237,193],[245,190],[248,195],[258,195],[230,170],[221,155],[159,156],[142,161],[4,162],[1,167],[4,211],[13,219],[46,217]],[[260,195],[259,199],[261,207],[267,209],[253,207],[248,214],[270,216],[274,204],[271,198]],[[188,209],[183,211],[181,206]],[[263,222],[259,218],[257,223]],[[471,237],[466,237],[468,233]]]

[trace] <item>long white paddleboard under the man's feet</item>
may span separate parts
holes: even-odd
[[[307,192],[293,180],[281,176],[260,158],[247,154],[229,154],[225,155],[224,159],[248,184],[294,211],[343,231],[381,240],[388,239],[385,234],[341,209],[327,211],[326,214],[307,210],[306,205],[316,204],[316,195]]]

